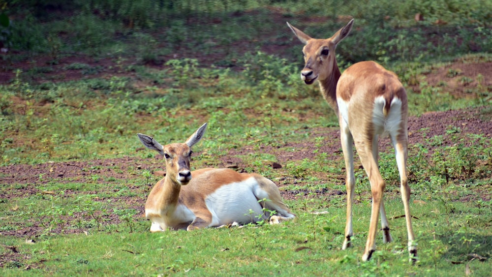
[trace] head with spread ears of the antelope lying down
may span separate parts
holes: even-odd
[[[172,143],[162,146],[152,137],[137,134],[145,147],[157,151],[166,160],[166,178],[170,178],[174,184],[187,185],[191,180],[190,160],[191,147],[200,141],[207,123],[198,128],[184,143]]]

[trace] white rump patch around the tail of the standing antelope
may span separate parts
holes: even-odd
[[[372,109],[374,131],[376,134],[383,136],[388,134],[396,135],[401,123],[401,100],[397,97],[393,98],[390,104],[390,111],[386,116],[383,113],[385,105],[386,100],[383,96],[378,96],[374,99],[374,107]]]

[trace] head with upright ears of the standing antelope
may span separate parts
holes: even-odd
[[[310,37],[287,22],[290,30],[292,30],[296,37],[305,44],[303,47],[305,65],[301,71],[301,79],[307,85],[314,83],[316,80],[324,81],[332,79],[331,77],[333,74],[338,74],[338,76],[336,76],[337,78],[340,76],[337,61],[335,59],[335,49],[337,48],[338,42],[345,38],[350,30],[352,30],[353,23],[354,20],[350,20],[345,27],[338,30],[330,38],[317,39]]]

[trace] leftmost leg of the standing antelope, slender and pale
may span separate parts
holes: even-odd
[[[342,125],[343,119],[340,120],[340,139],[341,148],[343,151],[343,157],[345,159],[345,170],[347,171],[347,177],[345,180],[345,187],[347,190],[347,222],[345,225],[345,240],[343,241],[343,250],[351,246],[350,238],[354,235],[352,227],[352,204],[355,192],[355,177],[354,177],[354,152],[353,152],[353,138],[348,130],[348,127]]]

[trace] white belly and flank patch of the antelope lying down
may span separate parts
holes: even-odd
[[[205,203],[212,213],[212,223],[209,227],[234,221],[245,224],[261,220],[256,216],[263,214],[262,207],[253,193],[258,186],[258,182],[251,177],[243,182],[222,185],[207,196]],[[249,210],[253,213],[249,214]]]

